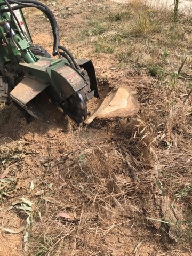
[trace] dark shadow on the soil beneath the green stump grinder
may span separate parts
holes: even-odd
[[[43,118],[32,118],[27,121],[21,111],[11,103],[2,107],[0,115],[0,145],[11,140],[21,139],[28,133],[37,133],[43,136],[50,130],[62,130],[67,132],[69,129],[69,119],[61,109],[53,104],[47,104],[46,115]],[[45,113],[45,109],[43,111]],[[7,138],[7,139],[6,139]]]

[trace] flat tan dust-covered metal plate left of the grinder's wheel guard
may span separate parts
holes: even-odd
[[[27,105],[29,101],[34,99],[40,92],[45,90],[49,84],[41,83],[35,79],[25,77],[14,87],[10,93],[10,97],[19,103],[19,105]]]

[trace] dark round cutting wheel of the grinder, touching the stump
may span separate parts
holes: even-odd
[[[79,91],[71,95],[65,102],[62,102],[60,106],[76,123],[82,123],[87,118],[86,103]]]

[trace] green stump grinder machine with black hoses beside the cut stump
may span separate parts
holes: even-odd
[[[35,7],[51,23],[53,56],[33,44],[22,9]],[[59,45],[57,21],[46,5],[36,0],[0,0],[0,96],[11,98],[23,114],[41,118],[37,102],[44,91],[76,123],[87,118],[86,102],[99,98],[94,66],[75,60]]]

